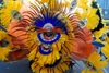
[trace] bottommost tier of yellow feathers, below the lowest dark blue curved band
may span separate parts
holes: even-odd
[[[69,70],[70,59],[63,57],[62,60],[53,68],[41,66],[37,61],[32,64],[32,70],[35,73],[63,73]]]

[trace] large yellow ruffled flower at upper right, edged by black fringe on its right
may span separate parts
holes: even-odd
[[[97,9],[93,9],[90,7],[86,9],[83,9],[82,19],[87,19],[87,25],[86,27],[89,29],[95,29],[97,27],[97,24],[99,23],[99,16],[96,15]]]

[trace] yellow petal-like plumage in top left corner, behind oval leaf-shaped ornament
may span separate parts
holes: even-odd
[[[1,23],[8,28],[10,21],[12,19],[11,11],[16,10],[19,11],[22,7],[22,1],[14,1],[14,0],[4,0],[4,8],[0,10],[0,19]]]

